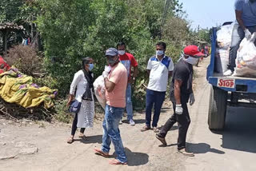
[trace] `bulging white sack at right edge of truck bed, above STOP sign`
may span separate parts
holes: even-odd
[[[250,40],[244,38],[238,49],[234,76],[256,78],[256,32]]]

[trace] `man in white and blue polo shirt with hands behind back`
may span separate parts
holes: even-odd
[[[174,70],[174,63],[171,58],[166,56],[165,52],[166,43],[158,42],[156,45],[156,54],[150,58],[146,67],[150,75],[150,81],[146,89],[146,125],[141,129],[142,132],[151,129],[150,122],[153,105],[154,117],[152,127],[155,133],[159,132],[157,126],[160,111],[166,97],[168,78],[171,77],[172,71]]]

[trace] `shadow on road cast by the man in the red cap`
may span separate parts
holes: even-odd
[[[219,149],[214,149],[210,148],[210,145],[206,143],[198,143],[198,144],[193,144],[193,143],[186,143],[187,148],[189,149],[190,152],[192,153],[219,153],[219,154],[224,154],[222,150]]]

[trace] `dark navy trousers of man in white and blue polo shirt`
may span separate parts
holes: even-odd
[[[150,127],[152,108],[154,105],[154,117],[152,126],[157,127],[158,120],[162,108],[162,103],[165,100],[166,92],[159,92],[146,89],[146,125]]]

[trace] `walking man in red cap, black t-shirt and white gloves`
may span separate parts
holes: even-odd
[[[166,134],[178,122],[178,152],[193,157],[194,153],[186,152],[186,133],[190,125],[190,115],[187,102],[194,104],[192,89],[193,66],[198,63],[198,58],[205,56],[198,51],[198,46],[186,46],[183,58],[174,67],[174,75],[170,85],[170,101],[173,102],[174,114],[166,121],[156,137],[163,145],[166,144]]]

